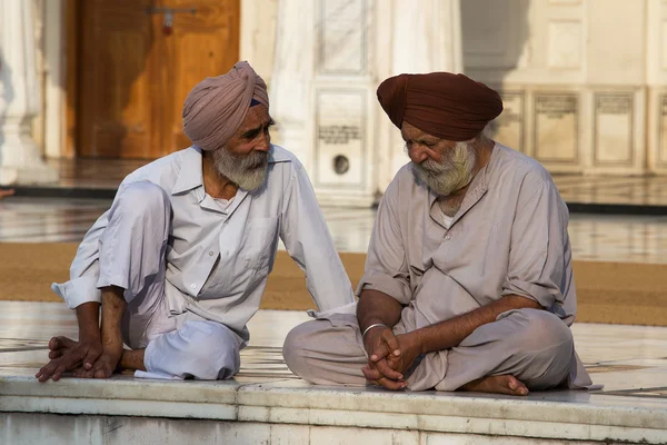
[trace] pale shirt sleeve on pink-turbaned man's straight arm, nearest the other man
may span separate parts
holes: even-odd
[[[321,312],[355,301],[329,228],[325,222],[308,175],[298,161],[286,190],[280,224],[285,248],[306,274],[306,287]]]

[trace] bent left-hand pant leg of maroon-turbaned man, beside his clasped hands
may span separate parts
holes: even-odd
[[[306,322],[287,335],[285,363],[292,373],[317,385],[366,385],[368,363],[357,317],[335,314]]]

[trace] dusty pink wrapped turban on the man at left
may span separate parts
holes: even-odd
[[[239,129],[252,100],[269,106],[267,85],[246,61],[226,75],[209,77],[188,93],[183,132],[202,150],[225,146]]]

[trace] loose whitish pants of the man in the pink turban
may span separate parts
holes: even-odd
[[[123,342],[146,348],[150,378],[231,378],[240,366],[240,340],[227,326],[192,313],[172,316],[165,280],[171,205],[162,188],[148,181],[119,191],[100,237],[97,286],[118,286],[128,303]]]

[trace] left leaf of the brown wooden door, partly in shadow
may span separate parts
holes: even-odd
[[[151,0],[82,2],[79,155],[141,158],[151,146]]]

